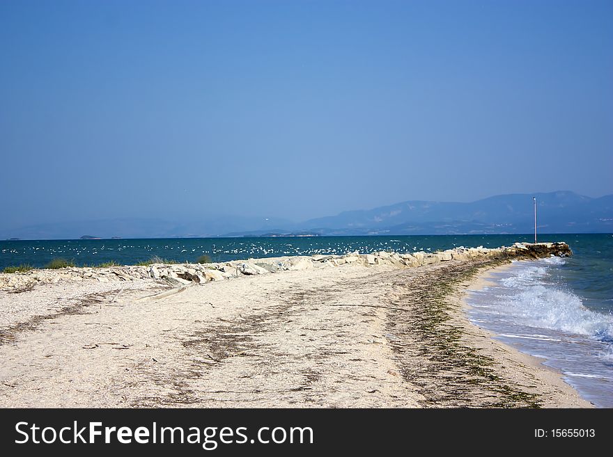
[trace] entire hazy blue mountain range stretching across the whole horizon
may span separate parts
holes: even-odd
[[[613,195],[590,198],[559,191],[496,195],[470,203],[410,200],[301,223],[230,216],[192,223],[123,218],[23,227],[8,230],[2,237],[76,239],[84,233],[100,238],[530,233],[534,230],[533,196],[541,233],[613,232]]]

